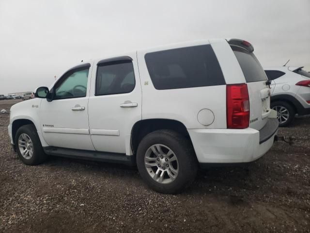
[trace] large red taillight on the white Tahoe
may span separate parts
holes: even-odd
[[[226,85],[227,129],[248,128],[250,118],[250,103],[248,85]]]

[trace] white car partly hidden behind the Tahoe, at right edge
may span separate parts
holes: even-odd
[[[295,114],[310,114],[310,73],[302,68],[265,68],[271,82],[271,108],[278,112],[280,127],[292,123]]]

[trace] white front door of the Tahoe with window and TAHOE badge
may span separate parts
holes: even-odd
[[[88,124],[88,99],[92,67],[83,64],[68,70],[43,99],[40,122],[49,146],[94,150]]]

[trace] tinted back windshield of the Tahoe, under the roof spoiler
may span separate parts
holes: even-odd
[[[234,46],[232,49],[247,83],[267,80],[263,67],[252,52]]]

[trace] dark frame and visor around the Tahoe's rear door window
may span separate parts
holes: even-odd
[[[99,69],[99,67],[123,64],[123,63],[131,63],[131,65],[132,65],[134,82],[135,82],[134,83],[134,87],[132,88],[132,90],[130,92],[116,92],[116,93],[107,93],[107,94],[97,94],[98,69]],[[135,68],[134,68],[134,64],[133,64],[133,59],[131,57],[129,57],[129,56],[121,56],[121,57],[115,57],[115,58],[108,58],[108,59],[100,60],[97,63],[94,96],[110,96],[110,95],[128,94],[128,93],[133,92],[135,88],[136,88],[136,75],[135,75]]]

